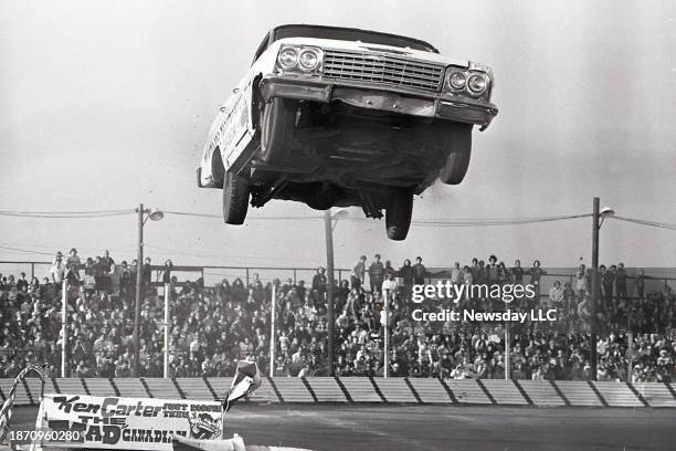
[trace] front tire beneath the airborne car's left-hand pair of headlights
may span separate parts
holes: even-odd
[[[261,159],[270,165],[284,165],[291,154],[296,126],[294,101],[273,97],[263,107],[261,117]]]

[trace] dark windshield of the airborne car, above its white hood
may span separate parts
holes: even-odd
[[[412,38],[374,31],[321,25],[282,25],[273,30],[273,41],[284,38],[318,38],[338,41],[360,41],[369,44],[410,48],[439,53],[431,44]]]

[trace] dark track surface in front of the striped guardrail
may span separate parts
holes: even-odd
[[[36,408],[18,407],[13,429]],[[244,406],[228,437],[311,450],[676,450],[676,409],[444,406]]]

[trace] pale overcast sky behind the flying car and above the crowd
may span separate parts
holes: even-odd
[[[387,6],[385,6],[387,4]],[[0,210],[133,209],[220,213],[196,187],[216,109],[266,31],[304,22],[430,41],[493,66],[500,112],[475,132],[458,187],[435,185],[414,219],[591,212],[676,223],[674,1],[0,1]],[[315,266],[321,221],[295,202],[250,211],[245,227],[168,216],[146,228],[147,253],[175,264]],[[352,209],[352,217],[361,217]],[[0,219],[0,247],[134,258],[136,218]],[[445,229],[385,238],[382,221],[341,221],[336,262],[380,252],[397,265],[495,253],[543,265],[589,261],[591,220]],[[601,260],[674,266],[676,231],[609,221]],[[45,255],[0,249],[2,260]],[[1,272],[0,268],[0,272]]]

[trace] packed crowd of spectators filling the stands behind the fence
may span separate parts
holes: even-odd
[[[388,338],[390,376],[443,378],[504,378],[505,365],[516,379],[592,378],[590,325],[599,332],[599,380],[670,381],[676,356],[676,296],[668,285],[648,290],[642,271],[630,276],[622,263],[601,266],[600,301],[590,302],[590,271],[548,274],[535,261],[507,266],[495,255],[488,263],[430,271],[422,258],[405,260],[399,269],[374,255],[361,256],[349,280],[331,287],[335,305],[335,374],[383,376]],[[72,249],[61,252],[42,281],[0,274],[0,377],[13,377],[27,363],[47,363],[47,376],[61,368],[62,281],[67,292],[67,368],[76,377],[129,377],[134,367],[137,261],[116,263],[107,251],[84,262]],[[237,359],[254,359],[262,371],[272,365],[275,376],[327,376],[328,279],[318,269],[309,285],[304,281],[223,280],[204,286],[203,280],[179,283],[172,264],[140,268],[139,376],[163,373],[163,296],[161,283],[175,282],[169,318],[169,375],[173,377],[232,376]],[[551,283],[541,290],[545,277]],[[467,296],[411,302],[414,285],[430,281],[452,283],[531,284],[535,295],[506,304],[499,298]],[[631,283],[630,283],[631,280]],[[161,282],[154,284],[151,282]],[[275,298],[275,361],[270,361],[271,314]],[[385,308],[385,306],[388,308]],[[556,322],[424,323],[412,318],[414,308],[433,311],[509,308],[557,310]],[[594,315],[595,313],[595,315]],[[387,327],[385,327],[387,326]],[[509,328],[508,343],[506,327]],[[387,334],[385,334],[387,331]]]

